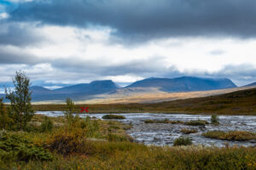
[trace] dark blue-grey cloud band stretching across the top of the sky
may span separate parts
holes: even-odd
[[[128,40],[177,36],[256,36],[254,0],[35,0],[10,20],[110,26]]]

